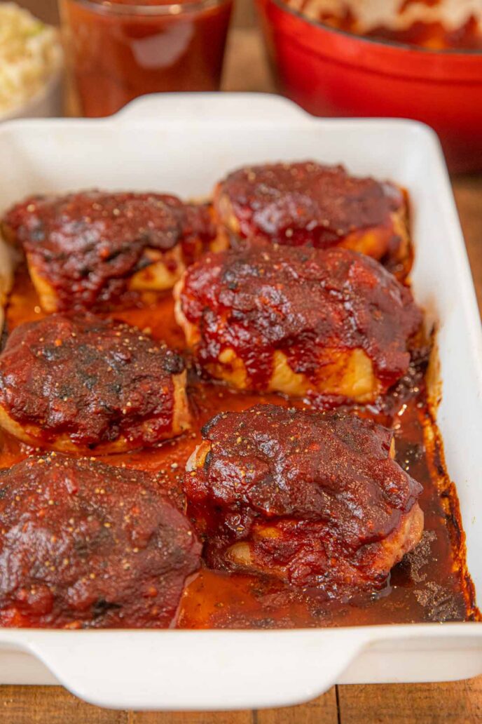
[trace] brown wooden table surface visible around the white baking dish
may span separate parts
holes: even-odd
[[[25,0],[46,20],[52,0]],[[249,9],[236,14],[228,41],[224,90],[274,91],[262,42]],[[482,176],[453,179],[482,310]],[[470,681],[390,686],[334,686],[313,702],[243,712],[113,712],[79,702],[60,686],[0,686],[1,724],[477,724],[482,722],[482,676]]]

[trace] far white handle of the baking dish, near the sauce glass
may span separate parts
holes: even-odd
[[[271,93],[223,93],[223,103],[219,102],[219,93],[150,93],[131,101],[113,118],[118,122],[133,119],[162,119],[178,123],[179,119],[191,118],[196,123],[216,123],[252,121],[259,127],[260,122],[289,124],[306,122],[312,125],[312,116],[292,101]]]

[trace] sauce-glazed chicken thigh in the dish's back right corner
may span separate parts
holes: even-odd
[[[314,161],[238,169],[215,188],[220,245],[246,237],[277,244],[340,245],[373,256],[408,256],[405,193]],[[224,237],[223,237],[224,231]]]

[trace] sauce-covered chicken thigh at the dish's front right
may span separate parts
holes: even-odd
[[[348,599],[382,589],[421,538],[421,485],[373,421],[256,405],[202,435],[184,491],[212,568]]]

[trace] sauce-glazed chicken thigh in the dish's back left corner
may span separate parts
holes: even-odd
[[[4,216],[45,311],[106,308],[170,289],[215,235],[207,206],[155,193],[36,196]]]

